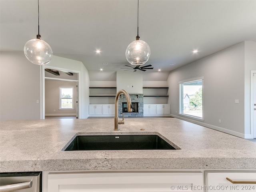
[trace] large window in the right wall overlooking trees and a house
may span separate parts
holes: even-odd
[[[180,81],[180,114],[203,119],[203,76]]]

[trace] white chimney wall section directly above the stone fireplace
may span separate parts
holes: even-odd
[[[143,79],[141,73],[116,72],[116,90],[126,90],[128,93],[143,94]]]

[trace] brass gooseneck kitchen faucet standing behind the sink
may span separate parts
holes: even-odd
[[[126,97],[127,100],[127,108],[128,108],[128,112],[132,112],[132,102],[131,102],[131,98],[130,95],[128,94],[128,92],[126,90],[119,90],[116,94],[116,98],[115,98],[115,122],[114,122],[114,131],[119,131],[119,124],[124,124],[124,115],[123,115],[123,120],[119,121],[119,117],[118,117],[118,98],[120,96],[120,94],[124,94],[124,96]]]

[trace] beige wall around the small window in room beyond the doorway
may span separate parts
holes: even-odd
[[[76,116],[76,84],[72,81],[45,80],[45,116]],[[73,87],[74,109],[59,110],[59,87]]]

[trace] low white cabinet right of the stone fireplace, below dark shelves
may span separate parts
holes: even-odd
[[[170,104],[144,104],[144,116],[170,116]]]

